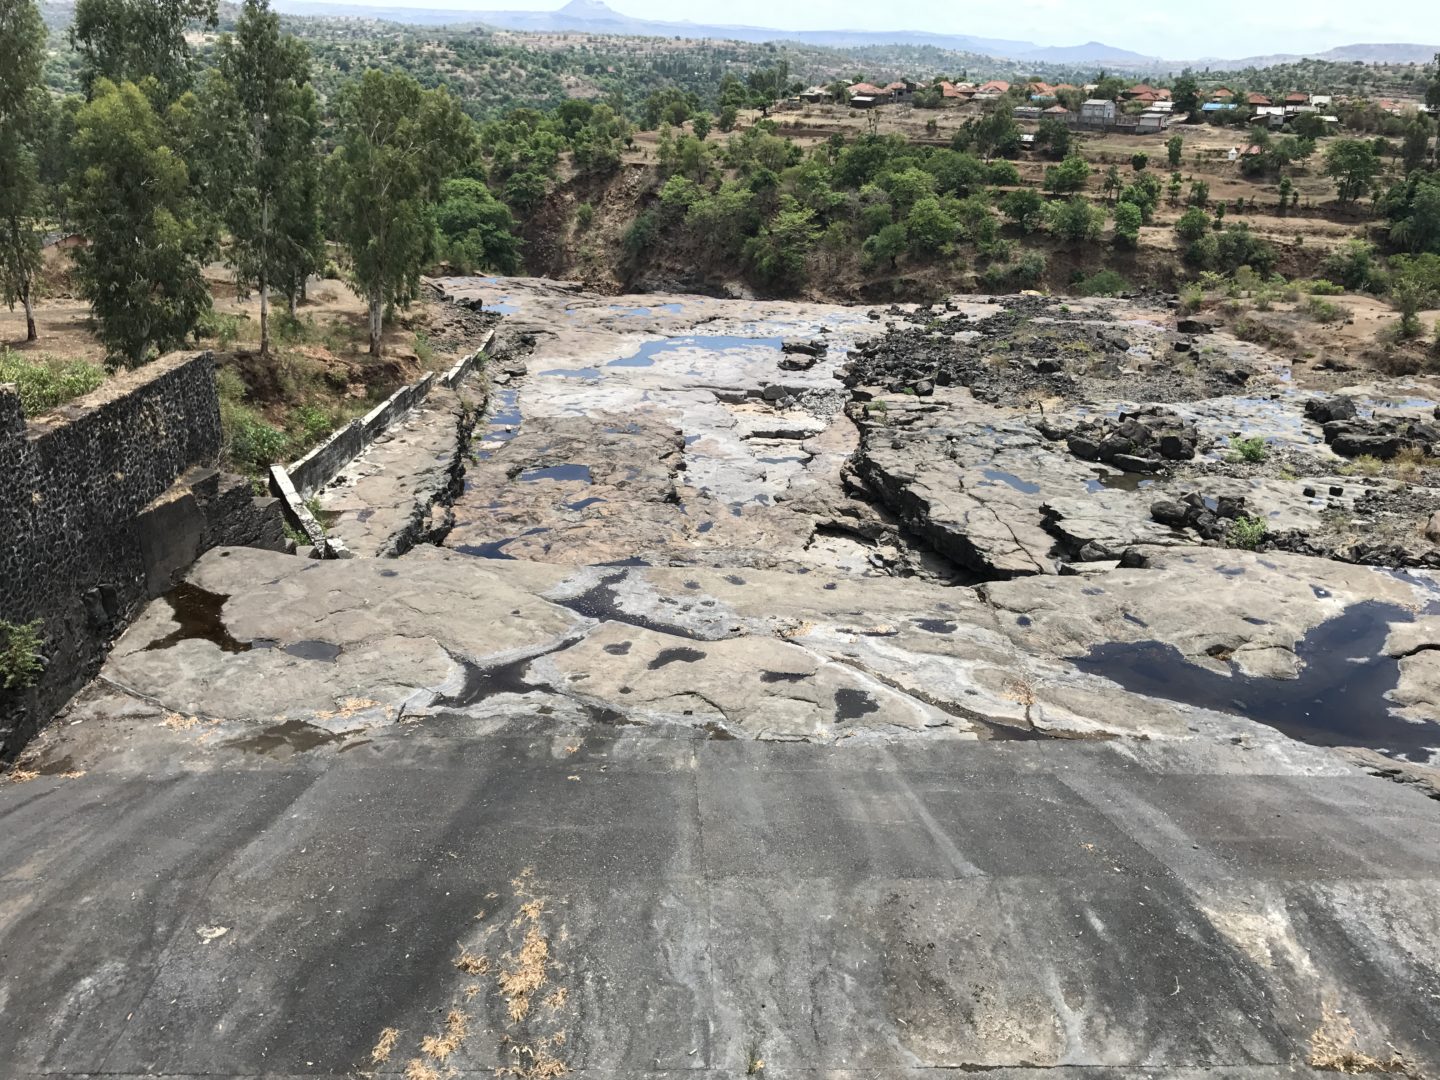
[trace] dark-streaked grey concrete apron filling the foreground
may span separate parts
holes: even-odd
[[[400,1076],[449,1011],[461,1076],[526,1045],[580,1076],[1303,1073],[1335,1011],[1358,1051],[1440,1057],[1440,821],[1320,752],[225,753],[0,789],[9,1076]]]

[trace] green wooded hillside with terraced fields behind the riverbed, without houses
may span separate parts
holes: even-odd
[[[1349,289],[1394,304],[1401,346],[1440,294],[1434,122],[1364,96],[1440,102],[1434,68],[1187,72],[1164,86],[1191,122],[1136,135],[1017,120],[1035,98],[1136,112],[1103,72],[1032,71],[945,108],[932,75],[1004,65],[927,48],[429,30],[264,0],[4,4],[0,285],[32,314],[56,281],[40,238],[78,235],[56,291],[88,304],[111,366],[210,333],[217,261],[258,298],[261,357],[274,310],[295,344],[307,282],[341,274],[374,357],[436,269],[841,300]],[[845,107],[850,79],[891,72],[904,104]],[[1045,72],[1074,82],[1027,85]],[[837,104],[799,104],[827,78]],[[1305,86],[1338,127],[1200,108]]]

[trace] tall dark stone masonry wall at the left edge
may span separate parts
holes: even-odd
[[[215,359],[174,353],[26,420],[0,387],[0,619],[39,619],[46,667],[0,685],[0,757],[98,670],[141,603],[220,543],[281,546],[272,500],[223,477]]]

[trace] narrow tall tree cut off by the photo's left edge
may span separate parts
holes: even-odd
[[[45,22],[32,0],[0,0],[0,301],[24,307],[35,341],[35,275],[40,268],[40,179],[36,138],[45,112],[40,76]]]

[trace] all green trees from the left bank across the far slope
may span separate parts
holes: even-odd
[[[46,35],[33,0],[0,0],[0,55],[13,58],[0,69],[0,300],[30,312],[43,232],[78,232],[75,282],[115,364],[184,343],[212,302],[203,268],[222,255],[239,292],[259,297],[266,351],[272,304],[294,312],[333,249],[369,307],[379,353],[387,312],[415,300],[425,269],[444,261],[459,272],[518,271],[517,220],[540,209],[562,166],[603,180],[634,141],[618,101],[567,99],[477,124],[445,88],[377,69],[321,96],[308,46],[266,0],[245,0],[202,65],[186,30],[216,20],[216,0],[79,0],[78,92],[59,96],[43,85]],[[641,124],[660,132],[658,187],[624,232],[625,258],[675,249],[792,292],[827,253],[831,266],[880,274],[901,261],[955,269],[972,253],[979,284],[999,291],[1045,275],[1037,233],[1092,245],[1110,222],[1115,248],[1132,249],[1168,203],[1188,207],[1179,235],[1194,272],[1276,265],[1270,245],[1236,220],[1246,200],[1214,204],[1202,180],[1185,189],[1178,131],[1164,144],[1168,177],[1145,153],[1102,176],[1070,128],[1044,121],[1034,140],[1051,160],[1041,190],[1011,161],[1021,130],[1004,104],[968,120],[949,145],[870,130],[806,148],[770,118],[734,131],[742,109],[791,85],[778,62],[723,76],[713,112],[680,86],[644,99]],[[1176,92],[1198,88],[1176,82]],[[727,138],[711,138],[716,130]],[[1287,170],[1318,144],[1303,131],[1256,140],[1241,168],[1279,177],[1284,213],[1295,206]],[[1398,252],[1440,261],[1428,145],[1430,128],[1407,132],[1395,151],[1403,179],[1388,186],[1385,138],[1331,140],[1322,167],[1341,203],[1374,199]],[[586,210],[576,213],[582,228]]]

